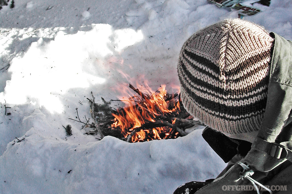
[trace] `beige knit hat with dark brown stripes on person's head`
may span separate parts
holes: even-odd
[[[240,19],[223,20],[191,36],[178,63],[185,109],[228,136],[258,131],[273,41],[262,27]]]

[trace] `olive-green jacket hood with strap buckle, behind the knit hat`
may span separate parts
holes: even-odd
[[[244,162],[266,172],[292,161],[292,42],[276,33],[267,105],[258,138]]]

